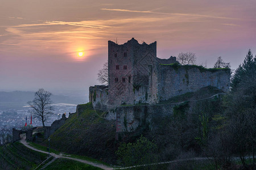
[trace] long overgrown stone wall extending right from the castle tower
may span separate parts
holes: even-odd
[[[229,69],[199,69],[198,66],[159,65],[158,67],[158,98],[167,100],[186,92],[194,92],[200,88],[213,86],[226,92],[229,90]]]

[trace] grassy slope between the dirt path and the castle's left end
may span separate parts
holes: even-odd
[[[51,135],[51,147],[60,152],[90,156],[113,163],[115,158],[115,123],[99,117],[92,103],[79,107],[61,128]]]

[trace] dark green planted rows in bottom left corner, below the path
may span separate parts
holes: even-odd
[[[31,169],[47,158],[47,154],[30,150],[19,142],[0,147],[0,169]]]

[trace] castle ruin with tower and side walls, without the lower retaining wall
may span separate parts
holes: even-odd
[[[156,41],[139,44],[134,38],[122,45],[108,41],[108,75],[109,86],[89,88],[94,108],[157,104],[206,86],[228,91],[230,82],[229,69],[181,66],[176,57],[156,57]]]

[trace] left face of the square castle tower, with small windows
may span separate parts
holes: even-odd
[[[128,41],[122,45],[108,42],[109,105],[131,103],[133,100],[129,96],[133,92],[133,55],[132,42]]]

